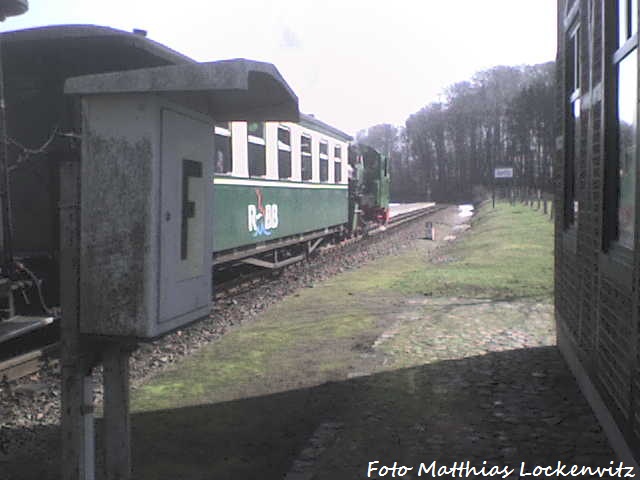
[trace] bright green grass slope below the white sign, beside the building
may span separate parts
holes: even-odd
[[[404,294],[495,300],[550,299],[553,293],[553,224],[526,206],[488,204],[473,221],[473,231],[446,253],[453,261],[417,265],[391,288]]]

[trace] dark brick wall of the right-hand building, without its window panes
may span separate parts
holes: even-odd
[[[636,238],[628,255],[622,258],[614,254],[606,241],[610,223],[605,216],[611,202],[607,175],[617,168],[617,158],[611,149],[615,142],[612,136],[616,135],[611,121],[616,108],[612,89],[615,68],[605,20],[616,12],[615,4],[612,0],[558,1],[555,306],[559,335],[570,350],[565,355],[577,357],[587,380],[595,387],[637,459],[640,458],[637,209]],[[571,32],[577,24],[581,106],[579,127],[572,135],[569,47]],[[637,49],[633,54],[637,55]],[[575,200],[579,205],[573,223],[567,219],[572,203],[567,198],[572,162]]]

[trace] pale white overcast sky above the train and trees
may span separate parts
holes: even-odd
[[[494,65],[553,60],[556,0],[29,0],[2,31],[86,23],[199,61],[271,62],[300,110],[354,134],[404,124],[448,85]]]

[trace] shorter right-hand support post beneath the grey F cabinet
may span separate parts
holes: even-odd
[[[104,365],[104,478],[131,478],[131,427],[129,421],[129,349],[119,343],[107,346]]]

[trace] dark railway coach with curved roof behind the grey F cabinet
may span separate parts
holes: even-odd
[[[65,81],[195,62],[144,35],[93,25],[3,33],[2,61],[11,243],[1,250],[3,270],[14,269],[0,278],[2,317],[13,319],[0,321],[6,340],[49,323],[57,313],[47,305],[59,304],[59,166],[78,157],[81,130],[79,103],[64,95]]]

